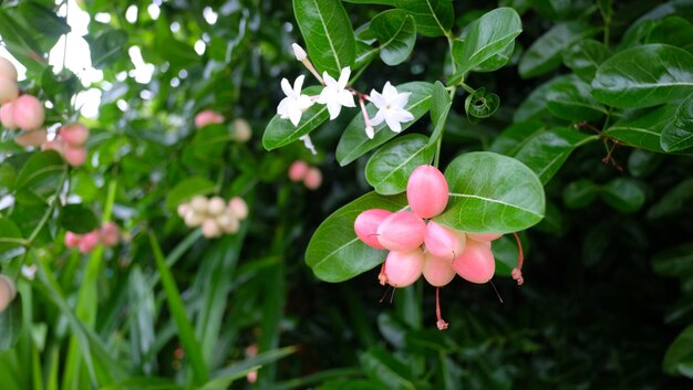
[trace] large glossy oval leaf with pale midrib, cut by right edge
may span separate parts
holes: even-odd
[[[599,66],[592,95],[619,107],[650,107],[693,92],[693,54],[666,44],[649,44],[614,54]]]

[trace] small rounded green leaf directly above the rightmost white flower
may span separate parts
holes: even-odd
[[[402,10],[387,10],[376,14],[369,29],[380,42],[380,57],[390,66],[403,63],[416,43],[414,18]]]

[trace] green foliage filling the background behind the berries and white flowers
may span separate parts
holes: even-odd
[[[99,119],[82,119],[92,131],[90,162],[68,169],[55,154],[18,147],[17,131],[0,138],[0,197],[14,199],[0,210],[0,267],[20,292],[0,315],[3,390],[691,386],[693,3],[294,3],[165,1],[156,20],[148,0],[81,3],[92,15],[92,63],[104,72],[91,86],[103,91]],[[413,50],[403,39],[374,52],[358,82],[364,91],[386,81],[485,88],[456,92],[441,128],[441,166],[467,151],[515,157],[537,175],[547,202],[545,219],[520,234],[520,289],[507,277],[513,240],[494,244],[503,303],[489,285],[456,280],[441,292],[451,327],[438,331],[435,291],[423,282],[381,303],[375,270],[330,284],[307,266],[318,225],[372,189],[370,154],[351,162],[338,147],[356,109],[311,133],[318,156],[300,141],[263,144],[279,81],[306,73],[290,44],[324,56],[319,68],[335,66],[310,50],[297,23],[294,10],[300,18],[310,3],[343,7],[356,36],[393,6],[414,19]],[[445,17],[452,41],[417,11],[424,3]],[[76,120],[71,98],[84,88],[45,62],[70,29],[60,6],[0,2],[2,44],[28,68],[21,88],[52,103],[49,124]],[[124,17],[131,6],[135,23]],[[215,24],[203,18],[206,7],[218,12]],[[485,36],[487,24],[473,22],[497,7],[515,9],[523,32],[497,25],[508,34],[492,48],[494,61],[467,61],[469,46],[455,39],[467,25],[467,42]],[[95,22],[97,13],[111,21]],[[395,13],[389,22],[411,29]],[[199,39],[201,56],[193,49]],[[126,76],[133,45],[155,66],[147,84]],[[480,97],[493,103],[490,94],[499,107],[474,112]],[[196,130],[204,108],[227,123]],[[250,123],[250,143],[231,139],[236,118]],[[426,115],[407,131],[427,135],[436,125]],[[320,166],[318,191],[288,180],[297,158]],[[49,169],[38,175],[40,167]],[[193,193],[240,194],[250,218],[239,234],[205,240],[175,214]],[[82,205],[64,207],[68,194]],[[66,229],[107,220],[126,232],[115,249],[80,255],[62,244]],[[33,280],[21,276],[22,264],[37,267]],[[245,377],[257,369],[251,384]]]

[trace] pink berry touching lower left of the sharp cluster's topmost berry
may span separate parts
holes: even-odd
[[[426,223],[408,211],[393,212],[377,225],[377,242],[390,251],[411,251],[424,243]]]

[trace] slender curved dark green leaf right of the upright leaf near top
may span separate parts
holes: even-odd
[[[531,78],[555,70],[566,49],[596,32],[597,29],[579,21],[556,24],[527,49],[519,62],[520,76]]]

